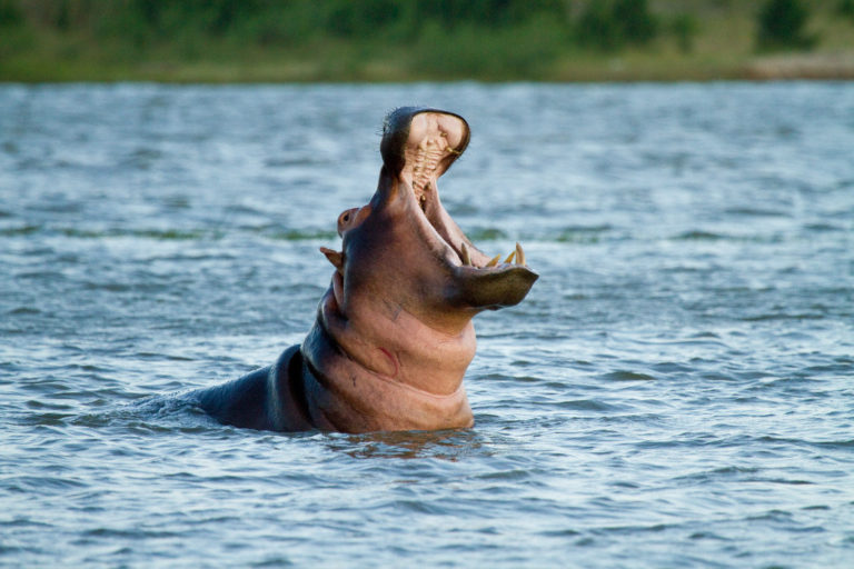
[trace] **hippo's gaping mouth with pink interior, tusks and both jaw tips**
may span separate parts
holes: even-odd
[[[474,306],[499,308],[519,302],[537,279],[516,243],[506,258],[478,250],[441,206],[438,178],[465,151],[468,123],[459,116],[404,108],[386,120],[381,144],[387,168],[411,191],[414,221],[428,246],[464,282],[463,297]],[[393,173],[389,172],[389,173]]]

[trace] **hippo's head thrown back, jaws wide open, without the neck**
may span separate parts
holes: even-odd
[[[426,311],[428,321],[436,320],[438,313],[458,320],[451,312],[470,318],[479,310],[513,306],[525,298],[538,276],[526,266],[522,246],[517,243],[504,261],[500,256],[485,254],[439,200],[437,179],[465,151],[468,141],[468,123],[457,114],[405,107],[388,116],[377,192],[367,206],[339,217],[342,251],[324,249],[344,277],[339,302],[358,295],[355,288],[361,279],[347,278],[349,267],[357,263],[365,263],[356,269],[363,274],[371,267],[373,291],[377,290],[379,273],[395,273],[379,280],[403,293],[404,305],[414,313]],[[377,266],[387,253],[397,258],[388,259],[390,264]],[[416,263],[419,267],[414,267]]]

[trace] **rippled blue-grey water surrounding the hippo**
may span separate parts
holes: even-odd
[[[451,432],[222,427],[383,116],[540,280]],[[854,83],[0,86],[0,565],[851,567]]]

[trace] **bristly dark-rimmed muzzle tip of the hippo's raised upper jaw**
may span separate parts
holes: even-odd
[[[416,117],[420,117],[415,121]],[[387,117],[383,124],[383,141],[379,143],[379,151],[383,154],[383,164],[388,174],[400,176],[407,166],[407,142],[418,142],[424,136],[416,130],[440,131],[448,139],[454,139],[453,148],[445,152],[441,163],[437,164],[436,176],[441,176],[450,164],[466,150],[470,139],[470,129],[468,122],[453,112],[429,109],[423,107],[400,107],[395,109]],[[415,134],[410,140],[410,132]],[[438,132],[437,132],[438,133]],[[411,149],[410,149],[411,150]],[[411,157],[409,157],[411,158]]]

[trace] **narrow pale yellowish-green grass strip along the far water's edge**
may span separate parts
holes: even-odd
[[[417,72],[368,61],[360,69],[337,69],[325,61],[270,60],[242,62],[149,61],[133,67],[91,61],[4,66],[0,82],[161,82],[161,83],[409,83],[409,82],[707,82],[768,80],[854,80],[854,52],[777,54],[738,61],[656,58],[646,53],[613,57],[567,57],[554,71],[526,74],[441,74]]]

